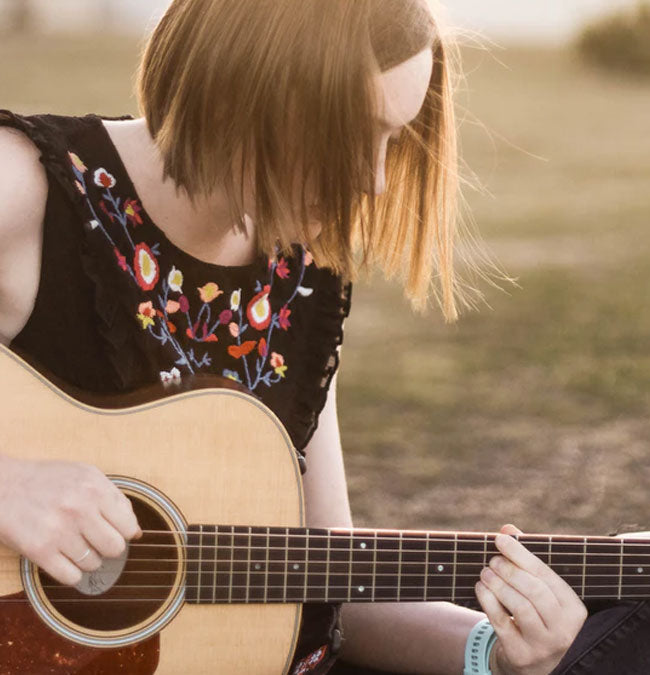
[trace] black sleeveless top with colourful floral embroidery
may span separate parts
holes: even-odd
[[[271,408],[304,455],[339,364],[351,283],[299,244],[233,267],[178,248],[144,210],[102,119],[133,118],[0,110],[0,125],[38,147],[48,179],[36,303],[10,348],[103,394],[225,376]],[[304,606],[290,673],[329,669],[338,609]]]

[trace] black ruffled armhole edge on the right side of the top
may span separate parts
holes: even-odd
[[[350,314],[352,282],[323,269],[324,281],[314,308],[309,349],[296,390],[292,428],[300,440],[296,449],[304,456],[305,447],[318,427],[320,413],[327,403],[330,385],[339,367],[345,319]]]

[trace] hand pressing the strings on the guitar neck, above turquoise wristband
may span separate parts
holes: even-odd
[[[500,532],[523,534],[514,525]],[[495,543],[502,555],[490,559],[476,584],[498,638],[492,673],[549,675],[582,628],[587,608],[564,579],[516,539],[497,536]]]

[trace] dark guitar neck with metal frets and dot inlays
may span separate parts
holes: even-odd
[[[475,604],[496,534],[193,525],[186,601]],[[583,599],[650,597],[650,540],[515,538]]]

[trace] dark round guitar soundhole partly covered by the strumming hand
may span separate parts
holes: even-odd
[[[167,601],[174,588],[179,551],[174,534],[148,503],[129,497],[144,535],[128,545],[122,573],[104,592],[88,595],[64,586],[39,569],[43,591],[68,621],[90,630],[114,631],[146,621]],[[107,585],[97,575],[91,585]]]

